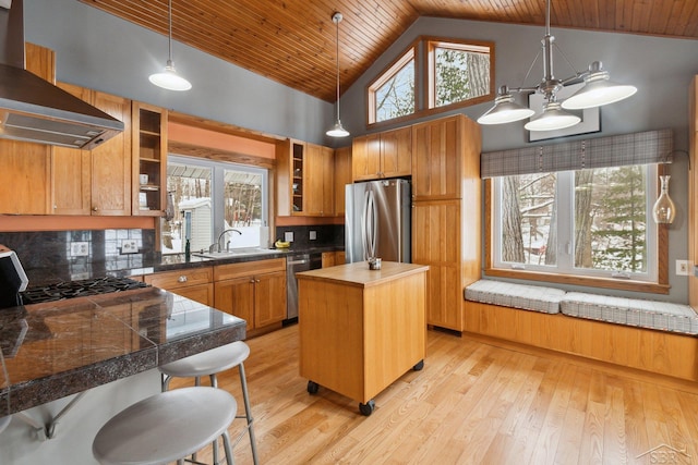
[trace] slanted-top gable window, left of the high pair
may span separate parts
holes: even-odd
[[[414,113],[413,47],[369,86],[369,108],[371,123]]]

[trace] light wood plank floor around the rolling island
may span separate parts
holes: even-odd
[[[698,464],[696,390],[467,336],[429,331],[428,342],[424,369],[378,394],[364,417],[356,401],[308,393],[298,326],[248,341],[261,463]],[[242,406],[237,369],[219,386]],[[246,437],[234,458],[252,463]]]

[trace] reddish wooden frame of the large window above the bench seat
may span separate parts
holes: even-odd
[[[659,192],[659,175],[664,173],[664,167],[662,164],[657,168],[655,182],[652,183],[654,193]],[[649,174],[648,174],[649,178]],[[505,267],[497,267],[494,260],[495,247],[495,228],[494,228],[494,209],[496,208],[494,201],[494,188],[495,183],[491,179],[485,179],[483,183],[484,188],[484,274],[488,277],[496,278],[510,278],[521,279],[530,281],[543,281],[558,284],[573,284],[583,285],[589,287],[602,287],[618,291],[633,291],[633,292],[646,292],[654,294],[669,294],[669,228],[665,224],[655,224],[657,234],[654,242],[654,264],[655,264],[655,281],[640,281],[634,279],[617,279],[605,277],[593,277],[582,274],[570,274],[564,272],[554,271],[540,271],[524,269],[517,270]],[[648,197],[652,197],[651,193],[648,193]],[[648,209],[648,215],[651,216],[651,209]],[[652,222],[650,220],[650,222]],[[648,262],[648,267],[649,267]]]

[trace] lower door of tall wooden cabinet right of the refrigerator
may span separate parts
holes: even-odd
[[[461,201],[417,201],[412,262],[429,265],[428,323],[462,331]],[[480,252],[479,252],[480,253]]]

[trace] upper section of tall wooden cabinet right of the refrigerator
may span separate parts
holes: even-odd
[[[462,115],[412,126],[412,197],[466,198],[464,183],[480,178],[480,126]]]

